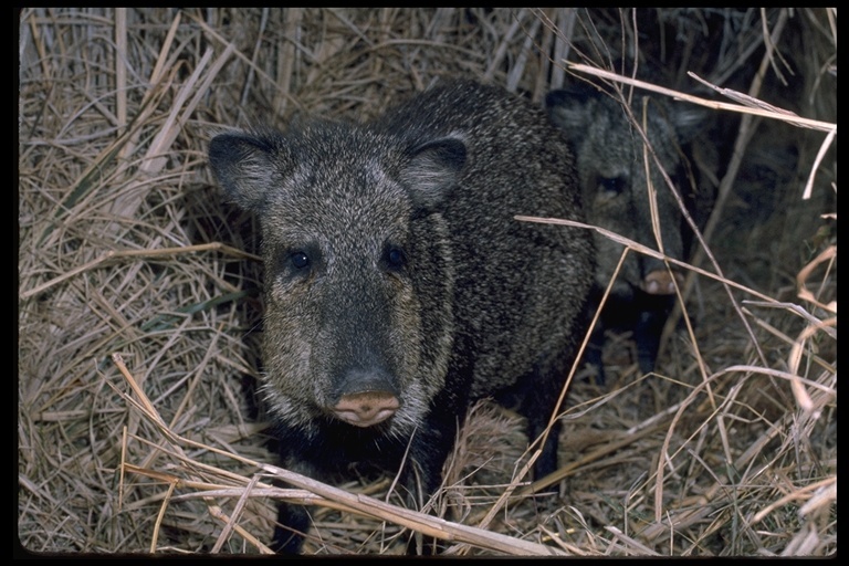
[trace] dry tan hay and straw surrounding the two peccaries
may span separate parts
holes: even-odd
[[[22,10],[21,547],[262,553],[285,496],[316,503],[307,553],[398,553],[411,527],[449,537],[451,554],[834,555],[836,20],[825,9]],[[657,375],[640,376],[628,336],[611,336],[610,382],[572,384],[564,468],[535,499],[513,481],[527,455],[517,417],[476,407],[434,505],[449,523],[395,505],[391,478],[339,490],[275,469],[253,395],[255,227],[211,186],[217,126],[367,118],[455,74],[539,102],[569,75],[564,59],[607,67],[635,50],[669,71],[664,86],[693,86],[693,71],[809,119],[730,120],[717,143],[738,151],[717,179],[711,253],[694,260],[708,274]]]

